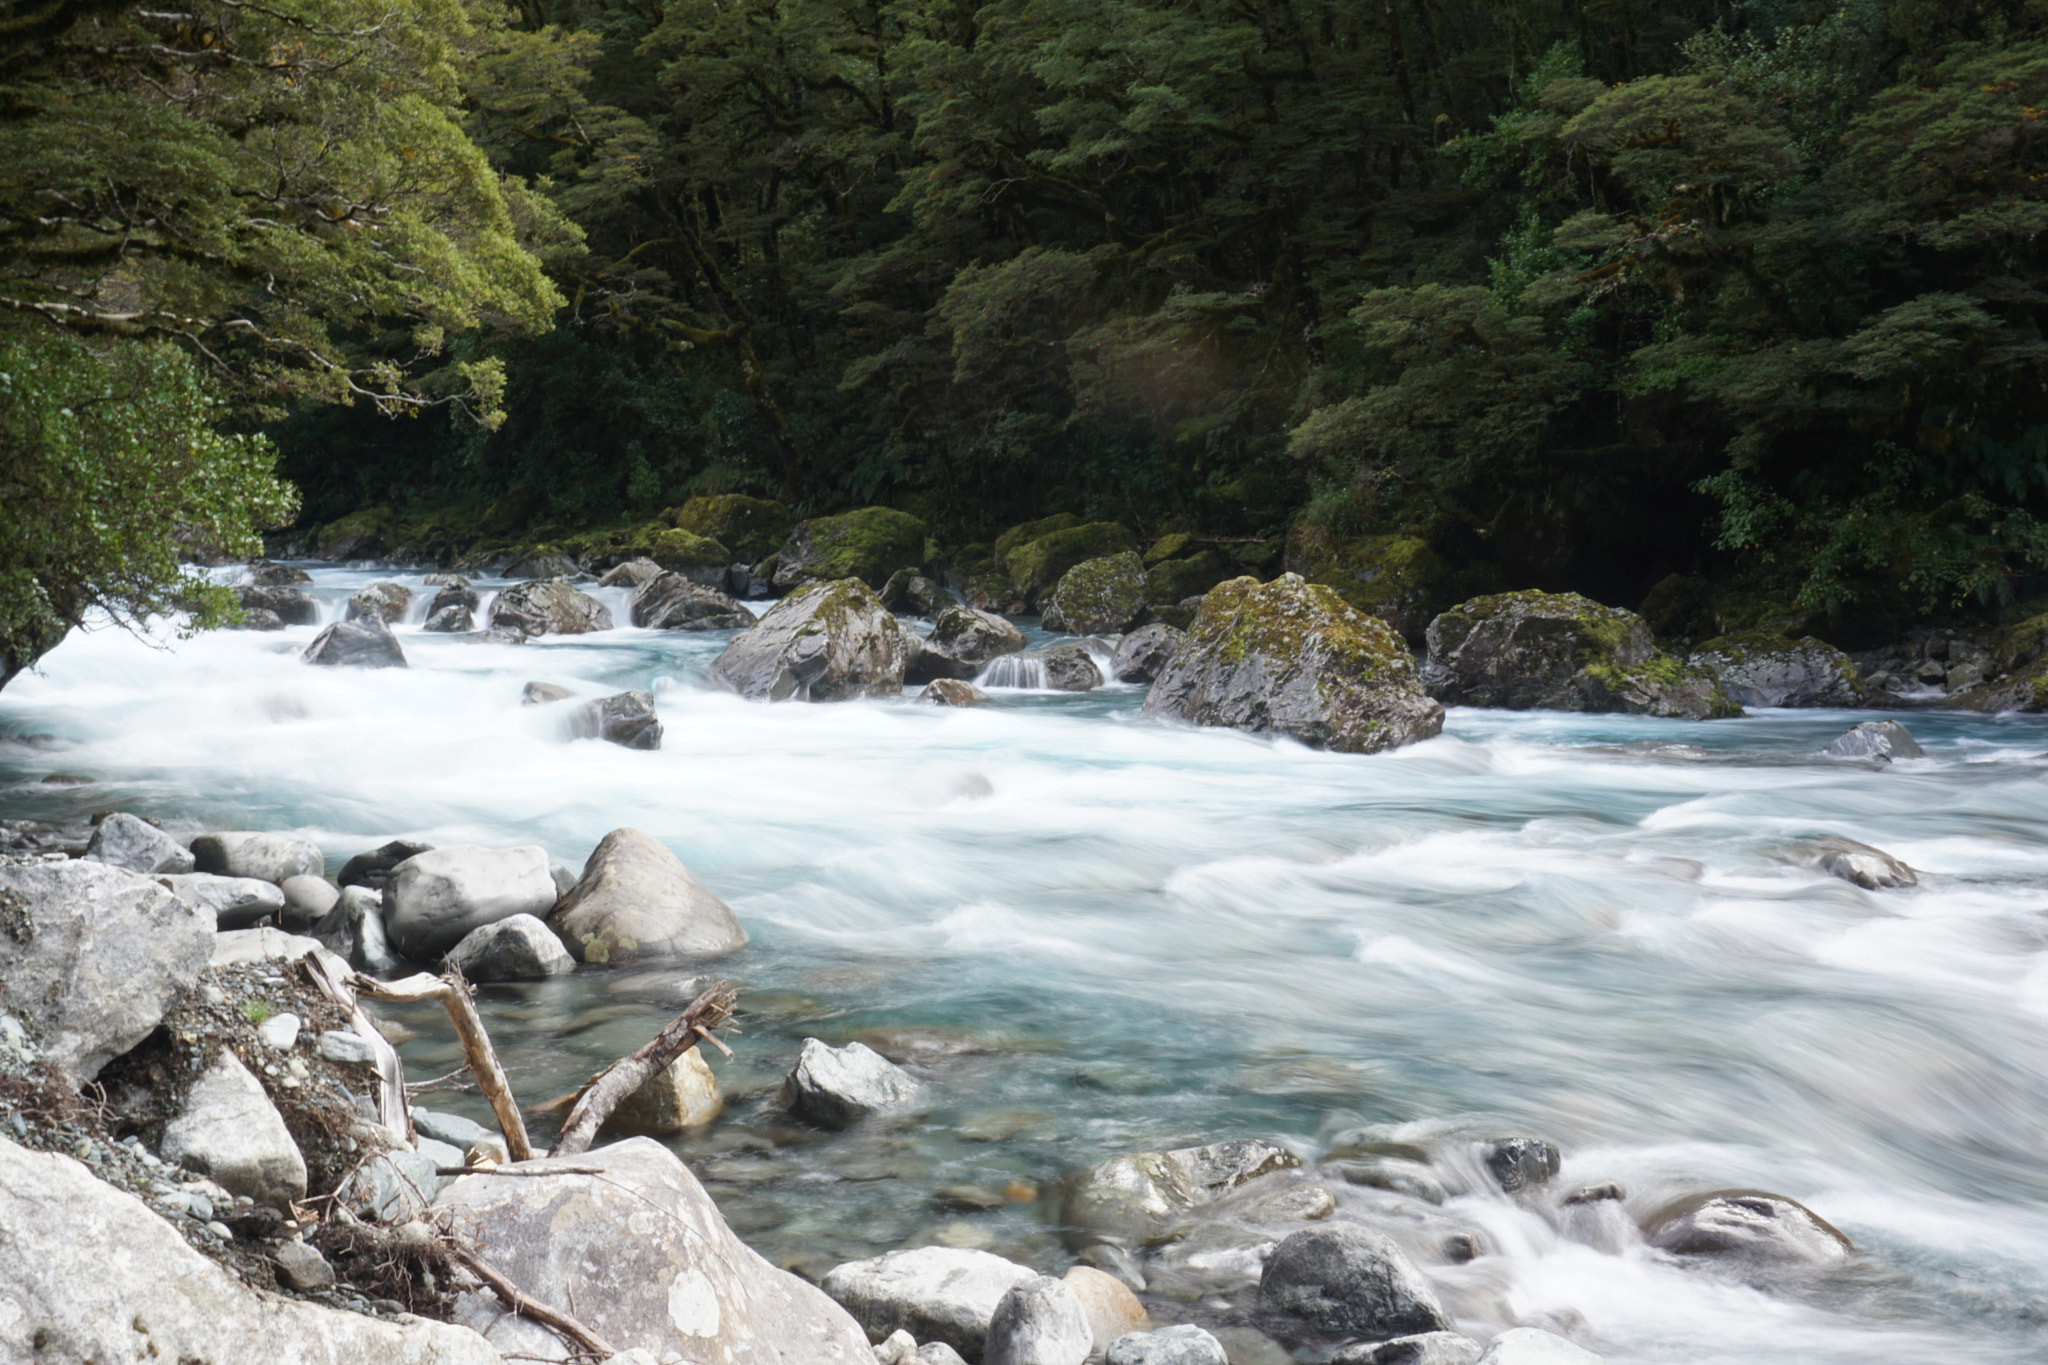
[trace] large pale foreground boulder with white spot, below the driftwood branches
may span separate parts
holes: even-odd
[[[860,1324],[733,1236],[688,1166],[651,1138],[500,1171],[547,1179],[469,1175],[434,1212],[506,1279],[573,1308],[616,1349],[696,1365],[872,1365]],[[455,1320],[506,1355],[569,1357],[487,1291],[461,1293]]]

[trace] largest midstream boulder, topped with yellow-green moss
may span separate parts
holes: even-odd
[[[1147,714],[1378,753],[1444,729],[1386,622],[1284,573],[1219,583],[1145,698]]]

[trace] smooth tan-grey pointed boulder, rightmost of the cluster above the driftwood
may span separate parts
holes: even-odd
[[[575,888],[547,915],[582,962],[707,962],[739,952],[745,929],[653,835],[604,835]]]

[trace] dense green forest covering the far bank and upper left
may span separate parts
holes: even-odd
[[[709,493],[1679,639],[2044,587],[2040,0],[6,10],[0,653],[152,528]]]

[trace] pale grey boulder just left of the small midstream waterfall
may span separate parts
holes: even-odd
[[[711,679],[766,702],[897,696],[909,643],[860,579],[811,583],[776,602],[711,663]]]

